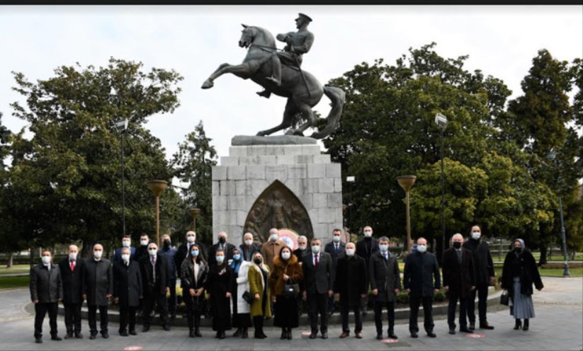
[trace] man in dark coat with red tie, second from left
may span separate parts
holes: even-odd
[[[85,292],[85,261],[77,260],[79,248],[69,246],[69,255],[59,263],[63,284],[64,326],[67,328],[65,339],[82,339],[81,335],[81,304]]]

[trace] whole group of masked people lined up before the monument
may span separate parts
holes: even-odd
[[[136,335],[136,316],[142,316],[142,332],[149,330],[154,307],[157,306],[164,330],[170,330],[169,318],[176,314],[176,280],[180,279],[182,299],[186,305],[189,336],[200,337],[200,319],[210,304],[215,338],[225,338],[226,331],[236,328],[234,337],[248,338],[254,326],[254,338],[266,338],[265,318],[274,316],[273,324],[281,328],[281,339],[291,340],[292,330],[299,324],[300,309],[307,302],[310,318],[310,339],[328,338],[328,317],[334,297],[339,299],[342,319],[340,338],[350,335],[349,311],[353,311],[356,338],[363,337],[362,316],[368,296],[373,299],[376,338],[383,339],[383,309],[387,310],[387,337],[395,335],[395,302],[401,291],[409,293],[409,333],[418,338],[419,306],[424,309],[424,330],[435,338],[431,313],[435,292],[441,289],[441,273],[434,253],[427,252],[425,238],[404,260],[403,278],[397,256],[389,251],[389,239],[373,238],[373,229],[363,229],[358,243],[346,241],[342,231],[335,229],[332,241],[325,246],[312,238],[310,246],[305,236],[298,238],[298,248],[292,251],[278,238],[278,229],[269,231],[262,246],[254,243],[251,233],[244,234],[243,243],[234,246],[221,232],[218,242],[208,250],[196,241],[196,233],[188,231],[186,242],[179,248],[171,246],[169,236],[163,236],[164,246],[158,248],[146,235],[140,237],[140,248],[131,246],[130,236],[124,236],[123,246],[113,255],[113,263],[103,258],[103,246],[96,243],[92,256],[77,258],[77,246],[69,246],[69,255],[58,265],[52,263],[50,251],[43,251],[42,263],[30,270],[30,298],[35,304],[35,341],[42,343],[43,320],[48,312],[52,340],[57,335],[58,301],[62,301],[68,338],[81,335],[81,304],[86,301],[90,339],[98,331],[108,338],[108,304],[119,306],[122,336]],[[493,329],[487,322],[488,286],[494,282],[494,265],[487,243],[480,240],[479,226],[473,226],[468,241],[455,234],[452,247],[443,251],[443,289],[448,294],[449,333],[455,334],[455,310],[460,304],[460,331],[475,329],[475,297],[478,297],[479,328]],[[514,250],[504,261],[502,287],[507,289],[516,318],[515,329],[528,330],[528,320],[534,317],[532,286],[542,289],[538,269],[530,251],[521,239],[514,241]],[[170,302],[166,295],[170,295]],[[169,306],[170,305],[170,308]],[[99,310],[101,326],[96,326]],[[170,310],[170,312],[169,312]],[[170,314],[170,316],[169,316]],[[319,325],[318,325],[319,316]],[[468,325],[469,319],[469,325]],[[524,322],[522,323],[523,320]]]

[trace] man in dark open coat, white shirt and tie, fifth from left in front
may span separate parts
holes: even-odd
[[[150,320],[152,319],[150,311],[154,309],[154,304],[159,307],[162,328],[166,331],[170,330],[168,326],[168,304],[166,301],[166,293],[170,291],[167,265],[166,257],[158,253],[158,246],[155,243],[149,243],[147,257],[140,260],[144,292],[144,300],[142,301],[144,326],[142,332],[149,330]]]

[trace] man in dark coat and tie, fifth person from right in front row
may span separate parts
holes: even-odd
[[[401,273],[395,255],[389,252],[389,238],[382,236],[378,239],[379,251],[370,256],[368,277],[370,289],[375,300],[375,326],[377,340],[383,340],[383,307],[387,306],[389,329],[387,334],[391,339],[395,335],[395,301],[401,289]]]

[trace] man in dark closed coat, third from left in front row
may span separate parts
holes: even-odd
[[[111,262],[102,258],[103,246],[96,243],[93,247],[93,258],[85,264],[85,296],[89,317],[89,339],[94,340],[97,335],[97,309],[101,319],[101,336],[109,338],[108,334],[108,301],[113,293],[113,273]]]

